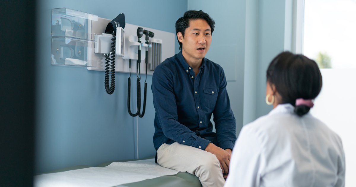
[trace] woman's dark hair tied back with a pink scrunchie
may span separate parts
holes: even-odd
[[[315,61],[302,54],[282,52],[275,57],[267,69],[267,82],[274,84],[282,97],[282,103],[295,107],[299,98],[314,99],[320,93],[323,81]],[[295,113],[307,114],[310,107],[298,105]]]

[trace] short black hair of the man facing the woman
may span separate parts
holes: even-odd
[[[211,34],[213,34],[215,21],[211,19],[209,14],[206,14],[202,10],[188,10],[184,13],[183,17],[180,17],[176,22],[177,40],[178,40],[178,35],[177,35],[178,32],[181,32],[184,38],[185,29],[189,27],[189,21],[196,20],[196,19],[203,19],[206,22],[208,22],[211,28]],[[182,42],[178,40],[178,43],[179,43],[179,50],[182,50]]]

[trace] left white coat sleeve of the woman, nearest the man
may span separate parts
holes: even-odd
[[[260,185],[261,144],[256,133],[242,128],[230,159],[229,176],[224,187],[255,187]]]

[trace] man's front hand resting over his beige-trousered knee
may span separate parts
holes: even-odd
[[[218,158],[223,173],[229,173],[231,155],[227,151],[221,149],[220,147],[214,145],[213,143],[209,143],[208,146],[206,146],[205,151],[214,154],[216,158]]]

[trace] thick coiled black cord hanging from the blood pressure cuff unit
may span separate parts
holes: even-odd
[[[113,38],[111,38],[111,58],[109,58],[110,54],[105,54],[105,90],[106,93],[112,94],[114,93],[115,90],[115,43],[116,43],[116,37],[115,37],[115,32],[112,32]],[[111,60],[111,81],[110,81],[110,86],[109,86],[109,59]]]

